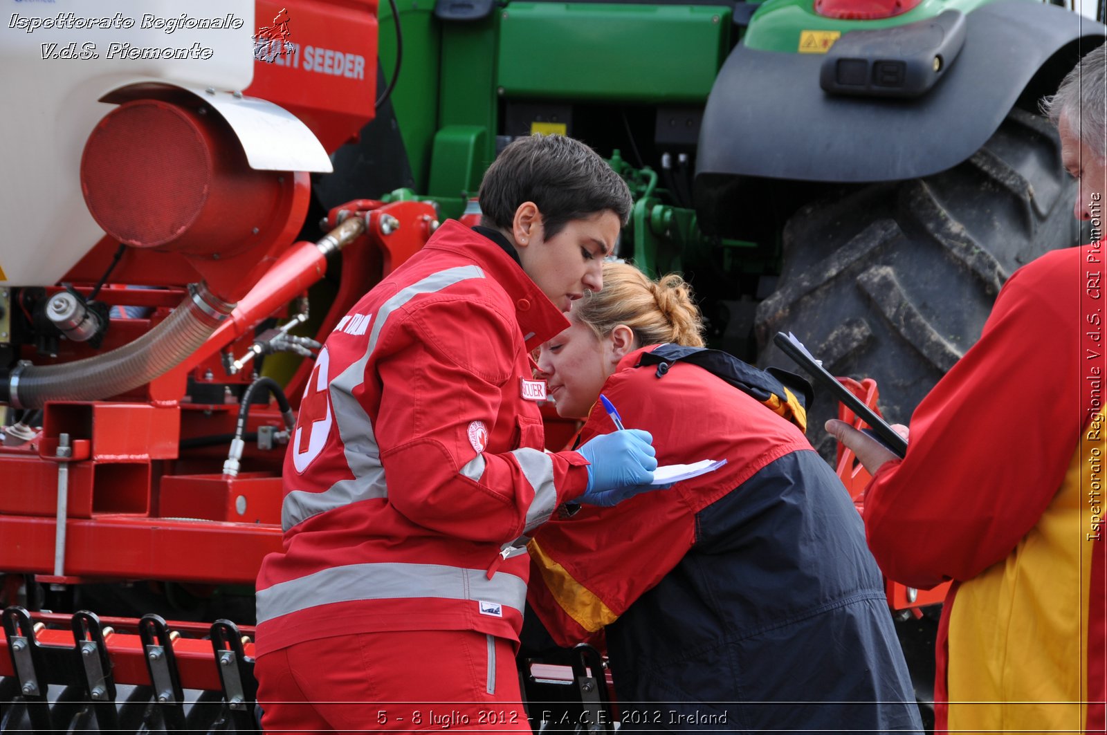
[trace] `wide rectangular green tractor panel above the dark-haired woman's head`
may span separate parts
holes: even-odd
[[[498,92],[575,101],[702,102],[730,42],[718,6],[513,2]]]

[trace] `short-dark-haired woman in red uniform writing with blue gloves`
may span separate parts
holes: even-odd
[[[582,143],[536,136],[504,149],[480,203],[486,226],[444,222],[315,362],[284,460],[284,547],[258,574],[268,732],[528,728],[525,534],[563,501],[613,504],[653,478],[641,431],[544,452],[530,380],[530,350],[602,286],[627,185]]]

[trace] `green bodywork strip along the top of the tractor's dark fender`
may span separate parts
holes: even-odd
[[[754,13],[749,29],[742,42],[751,49],[761,51],[797,53],[800,52],[804,31],[845,33],[855,30],[890,28],[933,18],[943,10],[955,9],[968,14],[989,0],[922,0],[908,12],[892,18],[836,20],[816,13],[815,3],[811,0],[766,0]],[[1026,2],[1037,2],[1037,0],[1026,0]],[[826,49],[818,49],[815,52],[825,51]]]

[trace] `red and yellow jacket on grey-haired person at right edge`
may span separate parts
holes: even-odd
[[[1015,272],[869,485],[884,573],[955,581],[935,729],[1104,729],[1103,270],[1096,244]]]

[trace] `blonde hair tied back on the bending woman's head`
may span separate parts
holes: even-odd
[[[703,318],[692,287],[679,273],[652,281],[628,263],[603,263],[603,290],[586,293],[573,304],[572,318],[601,338],[625,324],[640,346],[663,342],[704,346]]]

